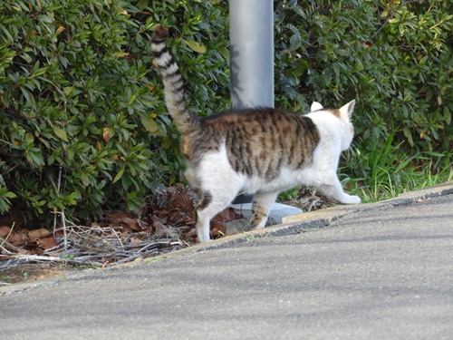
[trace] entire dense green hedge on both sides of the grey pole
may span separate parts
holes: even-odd
[[[276,104],[308,110],[358,100],[357,153],[366,178],[390,142],[451,166],[451,1],[275,2]],[[101,208],[138,210],[178,180],[178,133],[149,56],[156,24],[198,114],[229,101],[228,8],[219,0],[30,0],[0,3],[0,214],[45,222]],[[391,136],[391,140],[390,140]],[[398,146],[398,148],[397,148]]]

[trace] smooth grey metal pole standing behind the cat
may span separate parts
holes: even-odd
[[[273,0],[230,0],[229,20],[231,108],[274,107]]]

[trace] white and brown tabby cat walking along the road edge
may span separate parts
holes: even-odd
[[[254,195],[252,227],[264,228],[278,193],[306,184],[343,204],[361,199],[342,190],[336,171],[340,154],[354,135],[355,101],[338,110],[313,102],[305,115],[274,108],[218,112],[199,117],[188,112],[184,80],[169,53],[168,30],[159,25],[151,51],[159,66],[169,114],[181,134],[186,180],[199,197],[197,236],[209,238],[209,222],[238,193]]]

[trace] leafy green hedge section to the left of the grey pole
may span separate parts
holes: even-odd
[[[0,213],[14,206],[46,222],[54,210],[72,220],[137,211],[179,178],[178,134],[149,53],[161,22],[174,26],[171,45],[194,79],[191,106],[222,107],[210,82],[228,82],[226,15],[210,3],[0,3]]]

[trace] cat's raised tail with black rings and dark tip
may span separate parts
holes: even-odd
[[[188,112],[184,100],[184,80],[179,73],[178,64],[169,53],[168,37],[167,28],[162,25],[156,27],[151,37],[151,51],[162,74],[167,110],[176,121],[181,134],[188,134],[197,128],[199,118]]]

